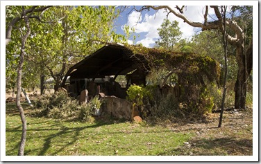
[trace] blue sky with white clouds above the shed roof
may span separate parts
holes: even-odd
[[[120,8],[120,6],[118,7]],[[124,25],[130,26],[130,28],[135,28],[135,35],[139,35],[135,39],[134,44],[142,44],[146,47],[153,47],[155,41],[158,41],[160,38],[158,35],[158,28],[162,24],[163,20],[167,18],[167,12],[165,10],[155,10],[137,12],[131,10],[133,6],[124,10],[119,15],[117,22],[115,24],[117,33],[124,34],[123,27]],[[135,6],[135,8],[140,9],[141,6]],[[205,12],[204,6],[187,6],[184,9],[184,15],[192,20],[197,22],[203,22],[203,13]],[[214,14],[212,8],[209,9],[208,20],[211,20]],[[200,33],[201,28],[194,28],[187,23],[183,22],[183,19],[176,17],[174,14],[169,14],[168,19],[170,21],[178,21],[178,26],[180,31],[183,33],[183,39],[191,39],[192,35],[195,33]],[[129,44],[133,44],[133,38],[128,39]]]

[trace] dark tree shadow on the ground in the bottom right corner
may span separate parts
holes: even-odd
[[[253,140],[235,138],[216,138],[190,140],[190,147],[184,145],[160,152],[159,155],[196,155],[196,156],[252,156]],[[169,154],[170,153],[170,154]]]

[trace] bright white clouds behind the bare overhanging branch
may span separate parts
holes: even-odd
[[[184,15],[191,21],[203,22],[204,13],[205,6],[187,6],[184,9]],[[214,14],[212,8],[209,8],[209,14]],[[144,46],[150,46],[150,44],[155,43],[155,40],[158,40],[159,35],[157,28],[160,28],[166,15],[167,12],[165,12],[165,10],[158,10],[158,12],[155,12],[153,15],[148,15],[148,13],[140,15],[140,12],[133,11],[128,16],[126,25],[130,26],[130,28],[134,27],[135,33],[146,33],[145,38],[138,41],[137,44],[142,43]],[[169,14],[168,19],[170,21],[178,21],[180,31],[183,33],[183,39],[190,39],[192,35],[194,35],[196,28],[185,23],[183,19],[180,19],[173,14]],[[208,17],[208,19],[210,19],[210,17]],[[198,31],[200,29],[196,30]]]

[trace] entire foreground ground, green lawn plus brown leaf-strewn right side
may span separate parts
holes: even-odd
[[[26,111],[26,156],[252,156],[253,109],[210,113],[206,122],[151,125],[97,119],[94,123],[36,118]],[[15,103],[6,104],[6,155],[16,156],[22,122]]]

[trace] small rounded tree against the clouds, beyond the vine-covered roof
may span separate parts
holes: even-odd
[[[164,19],[160,25],[160,28],[157,30],[158,35],[160,35],[160,39],[158,39],[155,44],[172,51],[175,44],[180,39],[180,35],[182,35],[182,32],[180,32],[180,28],[178,27],[178,21],[170,22],[169,19]]]

